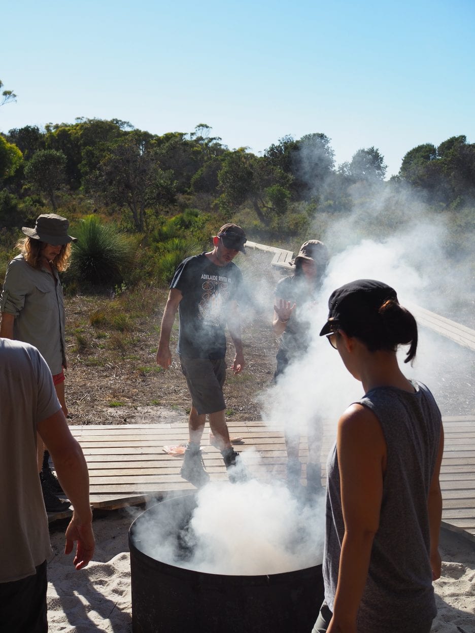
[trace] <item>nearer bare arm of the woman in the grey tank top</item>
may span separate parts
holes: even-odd
[[[357,633],[374,535],[379,527],[386,442],[374,413],[353,404],[338,423],[338,465],[345,536],[328,633]]]

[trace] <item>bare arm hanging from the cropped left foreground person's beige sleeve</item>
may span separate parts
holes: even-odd
[[[73,505],[73,517],[66,529],[65,554],[77,548],[73,564],[82,569],[94,554],[92,511],[89,503],[89,473],[84,454],[68,428],[60,409],[37,425],[38,433],[53,458],[58,479]]]

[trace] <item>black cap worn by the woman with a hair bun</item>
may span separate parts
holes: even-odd
[[[398,300],[394,288],[374,279],[357,279],[334,290],[328,300],[328,320],[320,336],[345,325],[352,328],[376,321],[379,308],[388,299]]]

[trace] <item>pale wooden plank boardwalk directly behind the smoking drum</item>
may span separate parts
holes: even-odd
[[[475,541],[475,415],[443,418],[445,452],[441,468],[443,526]],[[180,477],[182,458],[163,452],[163,446],[187,441],[184,423],[71,426],[89,467],[93,508],[114,510],[168,494],[184,494],[194,487]],[[241,436],[239,451],[250,451],[249,468],[260,480],[284,479],[286,450],[279,427],[263,422],[229,423],[231,437]],[[334,441],[334,425],[326,425],[322,465]],[[219,450],[202,442],[206,470],[213,481],[227,480]],[[305,439],[300,457],[307,461]],[[305,469],[303,472],[305,481]],[[70,512],[49,515],[49,520]]]

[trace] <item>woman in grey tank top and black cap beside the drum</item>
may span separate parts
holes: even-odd
[[[396,358],[417,324],[390,286],[360,279],[329,299],[320,335],[365,396],[338,422],[327,463],[325,601],[313,633],[429,633],[440,577],[441,415]]]

